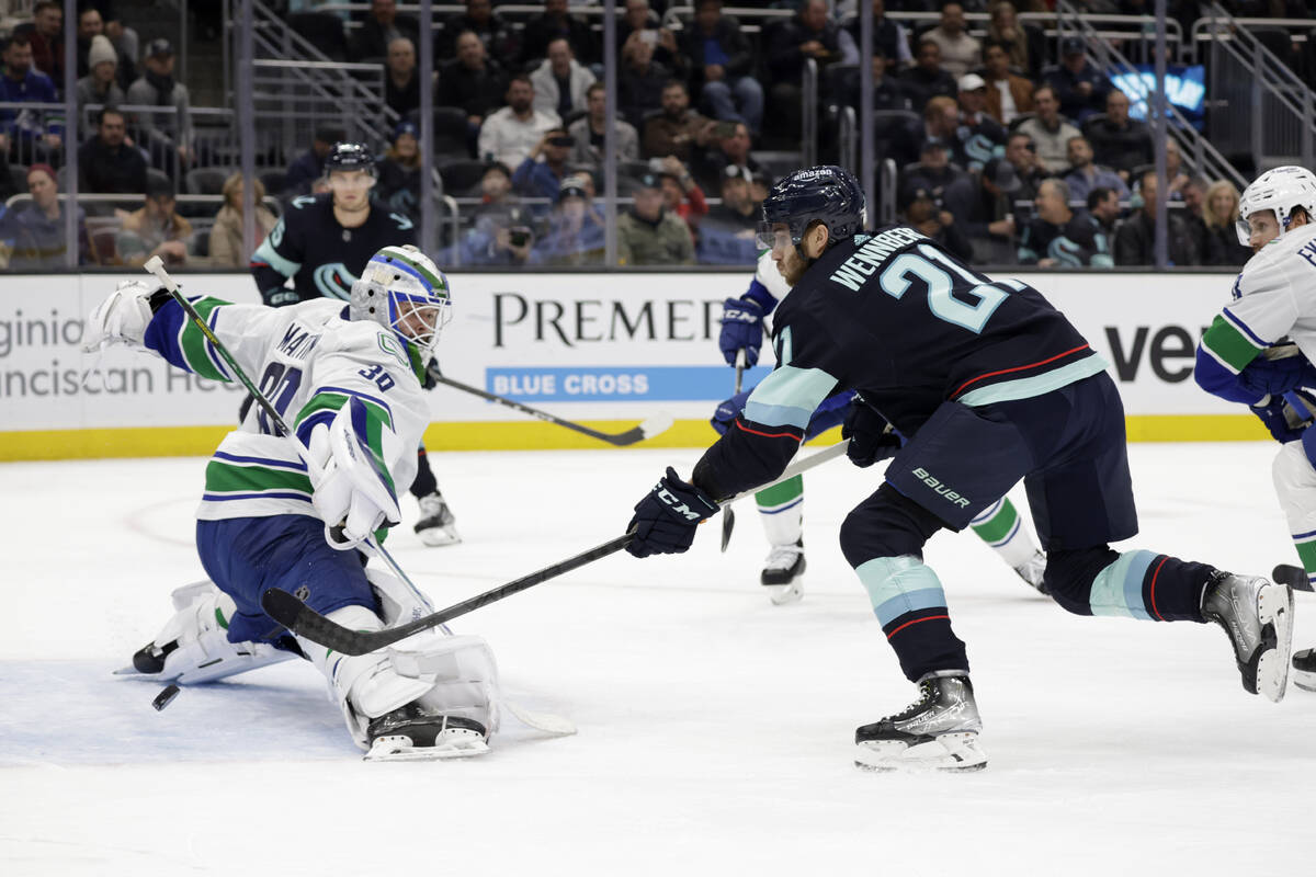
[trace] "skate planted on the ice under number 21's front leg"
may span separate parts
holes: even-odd
[[[982,721],[967,676],[925,676],[903,713],[854,732],[854,764],[867,770],[979,770]]]

